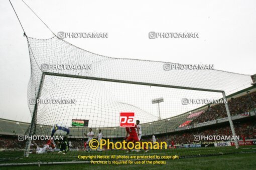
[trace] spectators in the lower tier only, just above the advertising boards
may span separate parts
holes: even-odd
[[[239,135],[240,139],[244,136],[245,139],[256,138],[256,123],[254,121],[248,122],[236,122],[234,124],[236,135]],[[193,131],[183,131],[176,132],[173,134],[163,133],[161,135],[156,135],[158,142],[166,141],[171,144],[174,141],[175,144],[191,144],[197,143],[194,141],[194,135],[232,135],[229,124],[223,125],[221,127],[208,127],[205,129],[193,130]],[[82,138],[69,138],[71,141],[71,148],[82,148],[85,139]],[[110,141],[122,141],[122,138],[110,138]],[[143,136],[141,141],[152,141],[152,136]],[[213,140],[203,140],[201,142],[209,142]],[[217,140],[216,140],[217,141]],[[36,141],[37,144],[45,144],[46,141]],[[18,141],[17,136],[0,136],[0,148],[25,148],[25,141]]]

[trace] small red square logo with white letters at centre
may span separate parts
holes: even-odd
[[[120,127],[134,127],[135,113],[134,112],[120,112]]]

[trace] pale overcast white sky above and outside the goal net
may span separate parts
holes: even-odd
[[[24,0],[57,34],[108,32],[108,38],[65,38],[88,51],[118,58],[214,64],[255,74],[255,0]],[[12,0],[28,36],[52,32],[20,0]],[[0,3],[0,118],[31,120],[27,104],[27,39],[8,0]],[[199,38],[150,39],[149,32],[199,32]]]

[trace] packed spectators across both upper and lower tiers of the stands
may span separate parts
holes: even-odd
[[[228,106],[231,115],[241,114],[248,112],[252,108],[256,107],[256,92],[251,92],[249,94],[244,94],[236,98],[231,98],[228,100]],[[194,118],[190,124],[197,124],[202,122],[207,122],[215,119],[220,119],[227,117],[225,105],[215,104],[209,106],[203,113]],[[256,124],[253,122],[236,123],[235,124],[236,135],[240,138],[245,136],[245,138],[256,138]],[[229,125],[208,129],[200,129],[196,131],[183,131],[177,132],[175,134],[167,135],[163,134],[157,137],[157,141],[167,141],[171,143],[174,141],[175,144],[189,144],[194,143],[194,135],[231,135],[231,129]],[[121,138],[113,138],[111,141],[121,141]],[[151,141],[152,136],[142,137],[142,141]],[[73,139],[70,138],[71,148],[78,148],[83,146],[84,139]],[[38,144],[46,143],[46,141],[36,141]],[[202,141],[203,142],[203,141]],[[25,148],[25,141],[19,141],[17,136],[1,135],[0,136],[0,148]]]

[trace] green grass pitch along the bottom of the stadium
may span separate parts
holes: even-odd
[[[20,156],[23,152],[15,153],[13,151],[6,152],[10,157]],[[230,154],[228,154],[230,153]],[[82,161],[78,155],[179,155],[183,158],[165,160],[165,164],[91,164],[91,163],[71,163],[71,164],[56,164],[56,165],[17,165],[17,166],[0,166],[0,169],[256,169],[255,157],[256,146],[241,146],[235,149],[233,146],[227,147],[197,147],[197,148],[176,148],[166,150],[150,150],[145,153],[130,152],[125,150],[107,150],[102,152],[85,152],[85,151],[69,151],[67,154],[44,153],[44,154],[30,154],[29,157],[20,159],[1,160],[0,163],[13,162],[52,162],[52,161]],[[218,155],[217,155],[218,154]],[[222,155],[223,154],[223,155]],[[3,152],[0,152],[0,158]],[[196,156],[184,158],[184,156]],[[211,156],[203,156],[211,155]],[[215,156],[214,156],[215,155]],[[98,159],[93,159],[98,160]],[[123,160],[123,159],[118,159]],[[90,159],[86,159],[90,161]]]

